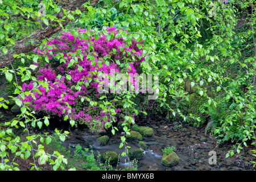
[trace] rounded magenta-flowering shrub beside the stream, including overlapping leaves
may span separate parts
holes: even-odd
[[[106,111],[108,109],[103,109],[102,101],[101,107],[97,106],[100,95],[104,96],[97,90],[100,85],[98,75],[105,73],[113,76],[111,70],[121,73],[122,69],[127,73],[136,73],[134,67],[144,60],[144,57],[138,58],[142,55],[142,49],[137,47],[137,44],[143,43],[135,40],[126,43],[123,38],[115,38],[118,31],[114,27],[108,27],[107,36],[102,32],[99,34],[85,29],[61,32],[62,36],[52,38],[44,48],[36,48],[34,52],[48,57],[46,59],[50,61],[42,67],[39,67],[39,63],[34,63],[38,66],[34,74],[39,82],[47,81],[48,85],[39,85],[35,81],[24,83],[22,91],[36,89],[22,99],[23,103],[31,101],[29,105],[34,110],[65,116],[64,120],[69,118],[72,124],[86,124],[94,131],[105,130],[105,123],[110,122],[110,118],[106,117],[109,113]],[[121,68],[120,61],[126,59],[133,61],[127,62],[127,68],[123,65]],[[53,60],[59,61],[59,66],[52,64]],[[104,81],[105,84],[109,83],[106,79]],[[84,100],[88,102],[85,103]],[[121,109],[122,107],[115,108],[114,111],[121,113]],[[117,117],[113,116],[113,119],[116,120]]]

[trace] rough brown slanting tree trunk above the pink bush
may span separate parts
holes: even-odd
[[[67,11],[74,11],[76,9],[79,9],[81,12],[83,12],[86,10],[86,8],[82,5],[87,1],[88,0],[73,0],[67,6],[65,6],[64,9]],[[90,5],[96,5],[98,1],[99,0],[91,0]],[[63,10],[61,9],[58,14],[55,13],[53,14],[53,16],[61,19],[64,16]],[[63,27],[65,27],[69,22],[70,20],[66,18],[65,22],[61,22],[61,24]],[[15,45],[12,47],[13,51],[10,51],[10,47],[8,47],[10,55],[7,53],[6,55],[0,56],[0,68],[8,66],[10,64],[10,61],[13,62],[15,60],[13,55],[19,55],[20,53],[27,53],[34,50],[39,43],[42,43],[42,40],[50,38],[53,34],[61,30],[59,23],[49,20],[49,24],[51,24],[51,26],[38,29],[32,34],[28,35],[26,38],[17,40],[15,42]],[[34,44],[32,45],[31,42],[33,42]],[[0,54],[1,53],[3,53],[2,50],[0,50]]]

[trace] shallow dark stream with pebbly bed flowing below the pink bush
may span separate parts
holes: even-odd
[[[0,119],[0,122],[5,122],[7,117],[11,118],[14,115],[7,113],[5,117]],[[251,160],[255,161],[253,146],[249,146],[241,150],[240,155],[230,156],[225,158],[229,150],[232,149],[233,143],[224,143],[217,145],[217,139],[209,134],[204,133],[204,129],[195,129],[194,127],[182,125],[182,129],[174,130],[174,122],[164,121],[160,118],[141,119],[136,122],[138,126],[148,126],[154,130],[151,137],[143,137],[143,142],[148,146],[143,151],[144,158],[138,160],[138,171],[248,171],[255,170]],[[50,122],[51,125],[51,122]],[[55,127],[55,126],[54,126]],[[115,135],[108,133],[109,142],[105,146],[101,146],[97,142],[100,134],[92,134],[86,129],[72,129],[69,137],[62,142],[63,146],[70,147],[75,150],[77,144],[82,148],[93,149],[94,155],[102,154],[106,151],[115,151],[120,154],[118,168],[129,167],[132,161],[128,161],[127,156],[122,157],[124,147],[119,148],[121,143],[122,132],[119,131]],[[126,140],[127,146],[138,148],[138,142]],[[163,149],[168,146],[176,147],[176,154],[179,156],[179,163],[176,166],[166,167],[162,164]],[[210,152],[216,152],[216,164],[210,164],[209,159],[212,157]],[[214,160],[210,160],[214,162]],[[116,166],[115,164],[113,166]]]

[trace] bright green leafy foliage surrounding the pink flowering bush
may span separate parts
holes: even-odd
[[[127,45],[131,44],[133,39],[138,42],[143,40],[144,47],[141,48],[144,61],[140,69],[143,73],[159,73],[159,88],[157,88],[159,97],[155,102],[160,106],[158,107],[160,113],[166,113],[167,118],[179,122],[185,121],[197,127],[203,126],[205,122],[203,115],[208,114],[212,123],[214,122],[214,135],[219,139],[218,142],[228,140],[236,142],[227,155],[232,156],[235,152],[239,154],[240,150],[249,144],[255,145],[256,141],[256,11],[253,2],[252,0],[229,1],[224,4],[214,1],[216,9],[213,11],[209,6],[212,1],[208,0],[123,0],[118,2],[107,0],[93,7],[86,3],[87,11],[83,13],[74,11],[69,14],[64,10],[64,14],[67,15],[65,18],[73,19],[73,22],[67,26],[67,30],[82,27],[97,32],[104,31],[107,26],[115,26],[129,32],[127,34],[126,31],[122,31],[117,35],[125,40]],[[34,21],[40,17],[37,1],[21,1],[21,6],[18,1],[5,1],[7,4],[11,3],[11,6],[3,4],[2,1],[0,3],[0,49],[1,54],[7,55],[12,51],[16,40],[27,37],[35,32],[36,28],[43,28],[43,24]],[[63,20],[52,16],[53,13],[59,13],[60,7],[50,0],[43,3],[46,4],[47,15],[40,17],[42,22],[46,25],[50,25],[49,20],[61,23]],[[12,16],[19,12],[27,19],[22,16]],[[237,17],[245,17],[242,26]],[[44,39],[43,43],[46,41]],[[13,152],[12,154],[21,159],[34,155],[33,150],[35,151],[33,158],[39,157],[41,163],[51,162],[53,169],[56,170],[67,163],[63,155],[57,151],[49,155],[44,151],[43,142],[38,147],[31,144],[36,142],[35,139],[44,138],[47,145],[51,140],[49,135],[28,133],[27,137],[20,140],[19,136],[12,134],[13,127],[21,127],[28,132],[27,126],[41,129],[43,124],[49,125],[48,116],[36,118],[33,111],[28,106],[24,106],[21,101],[25,95],[31,93],[31,90],[23,92],[20,82],[35,81],[34,90],[38,90],[40,85],[48,88],[47,81],[39,82],[36,73],[33,72],[35,68],[30,66],[31,61],[37,61],[39,56],[24,53],[14,56],[22,64],[27,62],[28,64],[19,65],[19,67],[14,65],[15,68],[12,65],[1,68],[0,73],[10,84],[7,84],[9,85],[7,92],[12,96],[10,100],[21,107],[22,114],[19,115],[19,119],[6,122],[5,129],[1,127],[2,163],[0,168],[1,170],[18,170],[18,165],[8,163],[8,148]],[[47,60],[43,61],[47,62]],[[75,65],[76,62],[71,67]],[[73,89],[75,90],[75,86]],[[188,97],[186,92],[190,94]],[[126,114],[118,117],[134,123],[132,114],[138,114],[133,107],[135,97],[138,97],[138,94],[123,93],[118,96],[104,97],[99,103],[101,109],[109,110],[113,115],[117,114],[113,109],[116,109],[117,105],[121,106],[123,113]],[[94,94],[89,95],[88,99],[99,100]],[[117,105],[113,105],[114,100],[122,102],[116,102]],[[143,101],[143,104],[151,102]],[[0,98],[0,107],[6,109],[9,102]],[[82,107],[81,101],[76,109]],[[154,107],[149,110],[154,110]],[[88,112],[98,114],[98,110],[93,108],[89,108]],[[207,117],[207,115],[204,116]],[[113,118],[112,114],[109,117]],[[114,122],[112,119],[108,123],[113,134],[117,131],[113,126]],[[124,127],[124,130],[128,138],[129,132],[132,133],[132,131],[127,127]],[[64,140],[67,133],[56,131],[56,135],[60,140]],[[121,147],[125,146],[125,138],[122,137],[121,140]],[[50,156],[56,160],[50,159]],[[89,158],[91,157],[88,157],[88,160]],[[92,158],[90,160],[93,162]],[[36,169],[35,164],[33,169]]]

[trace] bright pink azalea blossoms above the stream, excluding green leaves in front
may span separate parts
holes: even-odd
[[[85,29],[77,30],[80,34],[85,34]],[[92,31],[92,30],[90,30]],[[118,64],[114,61],[110,61],[110,64],[101,63],[98,64],[98,61],[102,61],[104,56],[110,56],[111,60],[123,60],[124,57],[135,56],[135,61],[130,61],[130,68],[127,68],[128,73],[136,73],[135,65],[138,65],[140,61],[144,60],[142,57],[142,49],[137,47],[137,44],[142,44],[143,42],[135,42],[133,39],[130,46],[126,46],[126,42],[123,38],[115,38],[118,34],[118,31],[114,27],[108,27],[107,31],[109,34],[114,33],[114,38],[107,40],[104,34],[99,35],[96,40],[95,35],[89,36],[88,40],[83,40],[79,37],[75,39],[75,36],[71,32],[62,32],[63,36],[58,38],[51,39],[46,46],[48,48],[35,49],[34,52],[39,55],[47,55],[49,59],[53,56],[56,56],[58,53],[55,52],[56,49],[61,49],[64,54],[63,59],[65,63],[61,63],[57,68],[52,68],[51,64],[45,64],[40,67],[39,63],[34,63],[38,65],[38,70],[36,70],[36,75],[39,81],[48,82],[48,92],[47,88],[39,86],[36,92],[33,92],[35,100],[33,100],[31,94],[28,95],[23,102],[30,102],[30,107],[37,111],[44,111],[48,114],[59,115],[64,117],[64,115],[69,115],[70,119],[75,121],[80,121],[80,123],[85,123],[89,127],[97,127],[97,131],[105,130],[105,123],[109,121],[107,118],[105,121],[104,116],[108,113],[102,112],[100,110],[98,115],[92,115],[90,109],[97,109],[96,106],[91,106],[87,102],[82,104],[82,107],[76,109],[76,105],[79,104],[80,97],[88,97],[90,94],[94,94],[96,98],[100,96],[100,93],[97,92],[98,82],[94,81],[97,78],[97,74],[94,74],[94,71],[101,71],[102,73],[110,75],[110,70],[114,69],[115,72],[121,72]],[[72,44],[72,46],[71,46]],[[93,45],[93,49],[89,48],[88,44]],[[121,48],[122,47],[122,48]],[[116,50],[116,53],[113,53],[113,50]],[[67,52],[65,52],[68,50]],[[77,56],[78,63],[74,63],[72,66],[69,63],[75,57],[72,57],[70,53],[74,52],[82,53],[81,56]],[[131,55],[127,55],[127,52],[130,51]],[[52,55],[51,55],[52,52]],[[93,54],[95,59],[94,64],[92,60],[86,59],[88,54]],[[82,69],[81,69],[82,68]],[[35,73],[35,72],[34,72]],[[57,77],[61,75],[61,77]],[[68,80],[65,75],[70,75],[71,79]],[[85,82],[91,79],[89,86],[86,87]],[[30,83],[24,83],[22,85],[22,90],[31,90],[33,89],[34,81]],[[81,89],[74,89],[72,86],[81,86]],[[65,94],[64,94],[65,93]],[[71,106],[71,107],[68,107]],[[71,111],[69,111],[71,110]],[[121,113],[120,108],[115,109],[115,112]]]

